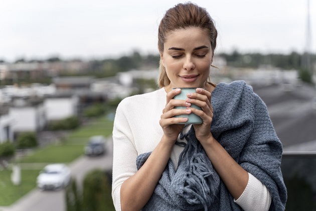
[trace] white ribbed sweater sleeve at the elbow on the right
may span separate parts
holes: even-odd
[[[234,200],[245,211],[267,211],[271,204],[271,194],[260,180],[248,173],[248,184],[241,196]]]

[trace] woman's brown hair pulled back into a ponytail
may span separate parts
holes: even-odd
[[[198,27],[207,33],[214,55],[217,38],[217,30],[214,21],[205,8],[201,8],[191,2],[180,3],[169,9],[161,20],[158,29],[158,49],[160,53],[164,52],[164,43],[168,33],[189,27]],[[170,80],[167,76],[166,68],[162,64],[162,59],[160,59],[158,85],[162,88],[169,84]]]

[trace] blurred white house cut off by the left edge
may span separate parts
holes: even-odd
[[[5,141],[13,141],[13,121],[9,116],[7,106],[0,105],[0,143]]]

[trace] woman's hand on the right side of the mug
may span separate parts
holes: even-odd
[[[201,117],[203,120],[202,124],[194,125],[194,130],[197,139],[200,142],[204,140],[209,140],[213,138],[211,133],[211,125],[213,120],[213,108],[211,104],[211,93],[205,89],[197,88],[197,93],[188,93],[188,98],[186,99],[187,102],[192,104],[198,105],[202,108],[201,110],[195,108],[188,108],[191,109],[192,113],[196,114],[197,116]]]

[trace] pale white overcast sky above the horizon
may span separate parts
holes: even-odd
[[[173,0],[0,0],[0,59],[107,58],[158,53],[157,28]],[[192,1],[219,32],[217,52],[288,53],[306,46],[307,0]],[[316,3],[310,1],[311,50]]]

